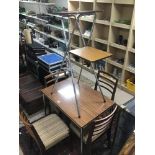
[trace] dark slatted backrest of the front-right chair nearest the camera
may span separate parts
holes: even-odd
[[[87,143],[91,143],[104,134],[108,129],[111,129],[112,120],[117,110],[117,105],[114,104],[110,109],[107,109],[102,115],[98,116],[92,124],[88,134]]]

